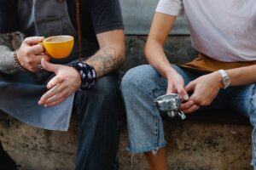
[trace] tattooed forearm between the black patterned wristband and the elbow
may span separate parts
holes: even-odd
[[[96,69],[97,77],[102,77],[110,71],[119,68],[125,61],[123,54],[116,52],[113,47],[102,48],[95,55],[84,62],[92,65]]]

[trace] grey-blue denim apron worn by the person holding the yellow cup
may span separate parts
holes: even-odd
[[[65,0],[20,0],[18,15],[20,31],[25,37],[63,34],[75,37],[72,54],[67,59],[52,59],[50,62],[67,64],[79,58],[78,34],[69,18]],[[95,53],[90,42],[83,39],[82,44],[83,56]],[[38,105],[38,100],[47,91],[47,82],[53,76],[47,71],[0,73],[0,110],[35,127],[67,131],[74,94],[54,107]]]

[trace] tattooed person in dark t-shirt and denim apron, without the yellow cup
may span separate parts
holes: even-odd
[[[117,169],[119,91],[125,61],[118,0],[0,0],[0,110],[21,122],[67,131],[78,113],[76,169]],[[24,37],[14,50],[11,32]],[[51,59],[44,37],[74,37],[72,54]],[[0,165],[1,167],[1,165]]]

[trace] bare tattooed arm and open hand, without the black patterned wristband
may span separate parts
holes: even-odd
[[[116,30],[98,34],[97,39],[100,50],[84,62],[95,68],[97,78],[99,78],[116,70],[124,63],[125,38],[123,30]],[[42,65],[45,70],[55,72],[55,77],[48,82],[49,90],[38,101],[39,105],[58,105],[81,86],[79,72],[73,67],[49,64],[44,59]]]

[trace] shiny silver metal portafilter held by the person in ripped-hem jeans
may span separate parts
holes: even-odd
[[[165,94],[155,99],[160,111],[167,111],[167,115],[170,117],[180,116],[181,119],[185,119],[186,116],[183,111],[179,111],[181,104],[178,94]]]

